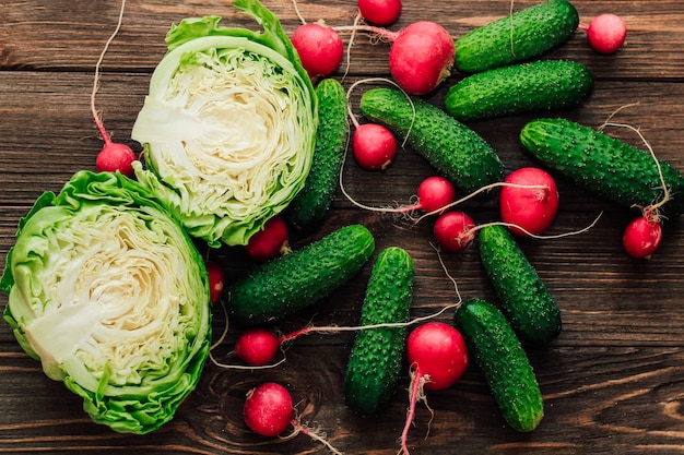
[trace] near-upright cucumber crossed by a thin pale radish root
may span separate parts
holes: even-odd
[[[361,325],[409,321],[414,265],[397,247],[378,254],[362,307]],[[373,416],[387,407],[397,391],[405,327],[367,328],[357,333],[344,375],[344,399],[350,409]]]

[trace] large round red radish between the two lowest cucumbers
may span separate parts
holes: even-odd
[[[465,340],[459,331],[444,322],[427,322],[406,338],[406,358],[425,388],[441,391],[458,381],[468,368]]]

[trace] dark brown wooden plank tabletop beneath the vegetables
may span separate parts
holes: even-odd
[[[516,10],[533,1],[518,0]],[[640,128],[654,153],[684,170],[684,1],[575,2],[581,21],[599,13],[622,15],[629,33],[618,53],[593,52],[578,32],[547,58],[586,63],[594,73],[590,99],[564,117],[598,127],[623,105],[613,120]],[[288,33],[298,24],[292,2],[266,0]],[[349,25],[356,2],[303,1],[307,21],[325,19]],[[0,1],[0,266],[14,242],[16,225],[44,191],[59,191],[80,169],[94,169],[102,146],[90,112],[94,67],[114,31],[118,1]],[[504,0],[404,0],[394,29],[417,20],[437,20],[458,38],[470,29],[508,14]],[[227,1],[129,1],[123,24],[103,63],[97,107],[114,139],[129,140],[146,94],[151,72],[165,51],[172,23],[187,16],[219,14],[225,23],[253,28]],[[368,76],[387,76],[388,47],[358,37],[344,84]],[[334,75],[342,76],[342,72]],[[447,87],[462,77],[455,73],[428,99],[441,106]],[[359,88],[352,100],[357,101]],[[471,127],[499,153],[507,171],[533,164],[518,133],[534,116],[481,121]],[[642,147],[626,129],[606,130]],[[432,175],[411,149],[382,173],[344,168],[350,194],[368,205],[405,203],[417,183]],[[558,179],[561,209],[550,234],[589,231],[555,240],[527,240],[521,246],[561,307],[564,331],[551,345],[528,348],[545,398],[545,418],[527,434],[503,421],[475,367],[452,387],[429,393],[434,410],[418,405],[410,433],[413,454],[676,454],[684,453],[684,226],[680,218],[665,226],[661,249],[650,261],[627,258],[622,231],[634,213],[614,206]],[[492,204],[467,205],[476,221],[497,217]],[[332,229],[363,223],[376,236],[377,251],[405,248],[416,263],[412,315],[433,313],[458,296],[439,265],[431,221],[417,226],[392,215],[353,206],[338,194],[329,218],[307,237],[293,236],[298,248]],[[239,249],[212,250],[229,276],[249,264]],[[449,273],[463,298],[496,301],[481,268],[476,249],[445,254]],[[283,332],[316,324],[356,324],[369,268],[315,308],[279,324]],[[7,297],[0,298],[7,304]],[[439,320],[449,322],[452,312]],[[215,314],[215,335],[225,320]],[[228,333],[214,356],[229,361],[238,327]],[[264,439],[250,433],[241,419],[245,393],[264,381],[292,392],[303,422],[325,432],[347,454],[397,453],[405,418],[409,378],[404,367],[390,408],[374,419],[355,416],[344,406],[342,378],[353,334],[309,335],[287,350],[286,361],[268,370],[235,370],[208,363],[198,390],[176,418],[151,434],[115,433],[96,426],[80,399],[49,380],[40,366],[0,324],[0,453],[164,453],[164,454],[304,454],[326,453],[305,435]],[[429,430],[429,432],[428,432]]]

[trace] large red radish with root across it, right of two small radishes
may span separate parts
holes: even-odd
[[[553,177],[545,170],[524,167],[506,177],[506,183],[538,188],[505,185],[499,193],[502,220],[510,224],[512,234],[540,235],[549,229],[558,211],[558,190]],[[520,228],[524,229],[524,231]]]

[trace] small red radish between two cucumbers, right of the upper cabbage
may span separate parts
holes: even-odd
[[[394,160],[397,140],[385,127],[364,123],[356,127],[352,140],[354,159],[364,169],[382,170]]]

